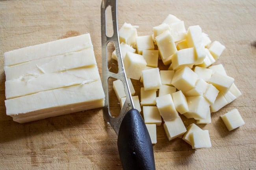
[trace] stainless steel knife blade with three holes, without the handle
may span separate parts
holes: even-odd
[[[101,42],[102,42],[102,84],[105,93],[105,106],[104,106],[104,119],[107,121],[115,130],[119,133],[120,124],[124,115],[131,109],[134,108],[134,103],[132,101],[132,96],[128,87],[126,74],[124,71],[124,64],[120,53],[119,46],[119,35],[117,27],[117,2],[116,0],[102,0],[101,4]],[[112,23],[113,23],[113,36],[108,37],[106,31],[106,9],[111,7]],[[115,50],[117,53],[117,62],[118,62],[118,73],[113,73],[108,69],[108,55],[107,55],[107,45],[109,42],[113,42],[115,45]],[[126,93],[126,101],[121,109],[121,113],[118,117],[113,117],[109,110],[109,77],[119,79],[124,84],[124,91]]]

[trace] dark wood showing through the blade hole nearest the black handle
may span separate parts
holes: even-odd
[[[117,117],[121,112],[121,105],[120,105],[121,103],[118,100],[115,90],[113,88],[113,86],[114,86],[113,84],[115,84],[115,86],[121,88],[119,86],[119,84],[120,84],[119,81],[121,81],[121,80],[115,79],[113,77],[109,77],[109,79],[108,79],[109,112],[111,113],[112,117]],[[118,90],[118,89],[116,88],[116,90]]]

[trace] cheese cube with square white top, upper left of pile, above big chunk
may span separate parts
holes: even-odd
[[[138,54],[142,54],[143,50],[153,50],[155,48],[151,35],[136,37],[136,44]]]

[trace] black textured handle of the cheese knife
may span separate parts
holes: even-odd
[[[124,116],[117,146],[124,170],[156,170],[151,139],[138,110]]]

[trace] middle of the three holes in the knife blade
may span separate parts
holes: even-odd
[[[113,54],[114,53],[114,54]],[[108,69],[112,73],[118,73],[118,63],[113,57],[115,57],[115,44],[113,42],[109,42],[107,44],[107,55],[108,55]],[[113,55],[113,56],[112,56]]]

